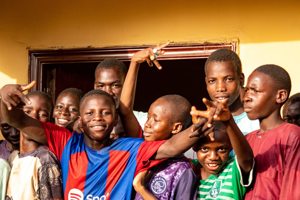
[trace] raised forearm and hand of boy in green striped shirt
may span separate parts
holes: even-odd
[[[247,174],[253,166],[253,152],[245,136],[236,125],[226,102],[212,102],[204,98],[203,103],[205,103],[207,111],[193,110],[191,115],[208,118],[208,123],[210,124],[208,126],[211,126],[212,120],[224,121],[238,164],[243,170],[243,174]]]

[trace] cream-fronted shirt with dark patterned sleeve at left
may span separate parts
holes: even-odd
[[[7,200],[63,199],[61,167],[45,146],[17,154],[11,163]]]

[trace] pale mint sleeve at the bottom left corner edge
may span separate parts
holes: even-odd
[[[10,173],[10,166],[6,160],[0,158],[0,198],[5,199],[6,186],[8,176]]]

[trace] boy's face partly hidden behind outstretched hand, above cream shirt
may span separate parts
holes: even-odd
[[[31,104],[26,104],[23,111],[39,121],[49,122],[51,114],[49,102],[38,95],[31,95],[28,98],[31,100]]]

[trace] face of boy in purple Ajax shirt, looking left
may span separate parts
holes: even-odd
[[[149,108],[145,123],[144,137],[148,142],[169,139],[172,136],[173,124],[167,109],[167,102],[158,99]]]

